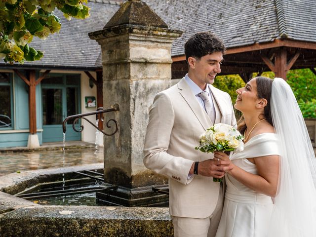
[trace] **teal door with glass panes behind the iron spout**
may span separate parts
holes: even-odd
[[[67,116],[79,114],[80,75],[49,74],[41,81],[43,142],[63,141],[62,123]],[[66,141],[79,141],[81,134],[67,121]],[[79,129],[79,121],[76,123]]]

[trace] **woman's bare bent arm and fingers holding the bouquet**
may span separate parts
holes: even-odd
[[[225,160],[228,157],[224,153],[214,152],[214,158]],[[275,197],[278,182],[279,156],[256,157],[254,161],[258,175],[249,173],[233,163],[231,164],[233,169],[227,171],[227,173],[253,191]]]

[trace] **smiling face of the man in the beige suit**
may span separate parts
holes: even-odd
[[[221,72],[222,61],[222,52],[207,54],[200,59],[193,58],[190,68],[197,85],[213,84],[215,76]]]

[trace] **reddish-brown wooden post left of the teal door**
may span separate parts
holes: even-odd
[[[30,119],[30,133],[36,134],[36,77],[35,70],[29,71],[29,119]]]

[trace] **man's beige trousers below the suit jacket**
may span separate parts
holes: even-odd
[[[224,194],[221,184],[218,195],[217,205],[213,213],[204,218],[186,218],[171,216],[175,237],[215,237],[216,231],[221,220],[224,204]]]

